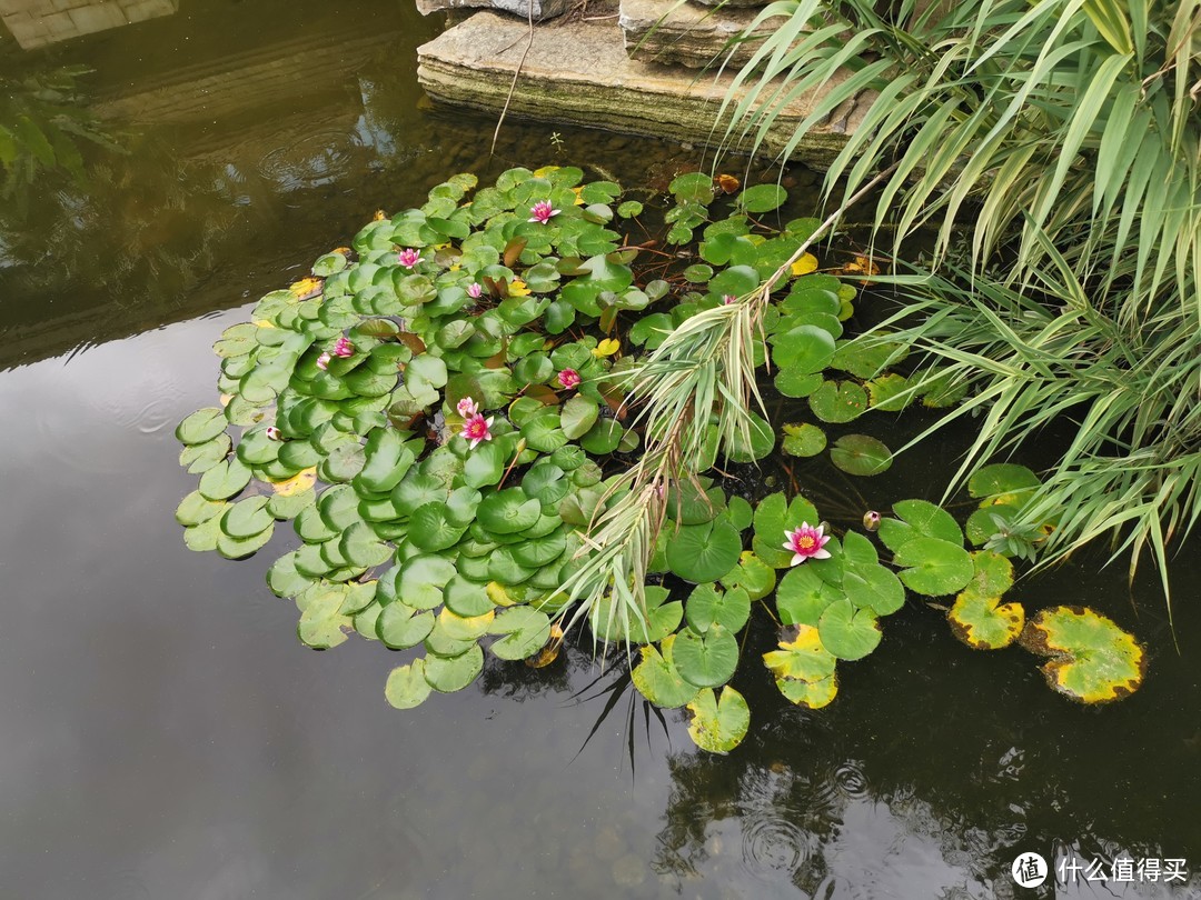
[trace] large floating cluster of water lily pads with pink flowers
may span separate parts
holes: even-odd
[[[175,512],[189,547],[243,558],[292,521],[300,546],[268,584],[294,600],[304,643],[357,632],[420,648],[384,688],[408,708],[474,682],[485,648],[546,665],[566,630],[586,626],[596,652],[626,648],[643,696],[686,708],[697,744],[725,751],[749,725],[730,685],[739,635],[755,604],[770,612],[777,570],[789,570],[779,649],[764,661],[785,697],[814,708],[833,698],[838,660],[876,648],[907,588],[1004,590],[993,571],[1005,558],[969,554],[933,504],[878,517],[889,563],[866,535],[832,534],[801,496],[752,508],[731,492],[730,467],[776,445],[759,388],[769,359],[779,392],[826,422],[921,394],[876,373],[898,349],[843,337],[853,289],[807,262],[793,274],[819,223],[752,217],[782,191],[748,188],[721,217],[707,176],[682,175],[669,232],[683,242],[703,229],[701,262],[650,253],[635,270],[640,248],[610,227],[634,215],[628,202],[614,210],[619,185],[552,167],[476,188],[456,175],[420,209],[381,214],[311,277],[262,298],[214,346],[222,404],[177,430],[180,463],[199,475]],[[540,203],[557,212],[533,215]],[[888,457],[868,436],[831,450],[865,476]],[[976,634],[990,611],[960,618]]]

